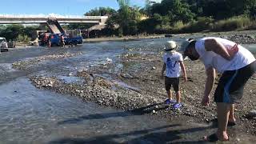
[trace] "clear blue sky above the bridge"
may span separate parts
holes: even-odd
[[[116,0],[6,0],[0,14],[82,15],[99,6],[118,9]],[[131,0],[131,5],[144,6],[144,0]]]

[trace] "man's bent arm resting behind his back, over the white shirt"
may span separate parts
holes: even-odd
[[[206,51],[213,51],[216,54],[222,56],[226,60],[230,61],[234,58],[234,55],[238,53],[238,45],[235,44],[230,50],[227,50],[222,43],[217,42],[215,39],[206,39],[205,41]]]

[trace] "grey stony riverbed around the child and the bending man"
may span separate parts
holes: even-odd
[[[256,43],[255,38],[244,35],[228,35],[226,38],[238,43]],[[96,102],[99,105],[113,106],[138,114],[156,114],[159,118],[168,118],[170,121],[206,122],[216,126],[216,105],[213,99],[210,106],[200,105],[206,74],[204,66],[199,61],[185,61],[189,81],[184,82],[183,78],[180,78],[182,109],[173,110],[171,106],[162,103],[166,99],[166,90],[160,78],[163,54],[161,46],[123,45],[123,53],[118,55],[116,61],[108,59],[106,63],[96,66],[86,66],[72,73],[67,71],[65,77],[74,78],[72,82],[66,82],[65,78],[56,76],[58,74],[54,74],[55,76],[30,75],[30,81],[40,89],[72,94],[86,102]],[[76,55],[62,55],[58,58],[72,56]],[[17,70],[26,70],[27,67],[37,63],[38,59],[41,62],[51,58],[52,56],[39,57],[25,64],[14,62],[13,67]],[[218,78],[214,89],[217,84]],[[235,114],[238,122],[236,126],[229,129],[236,131],[236,133],[230,133],[231,137],[239,133],[256,135],[256,118],[253,111],[256,107],[255,87],[254,74],[247,82],[242,102],[236,105]],[[238,142],[238,140],[234,139],[232,142]]]

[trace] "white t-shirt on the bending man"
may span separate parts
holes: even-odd
[[[214,38],[214,37],[212,37]],[[250,53],[249,50],[244,48],[241,45],[238,45],[238,53],[235,54],[234,58],[230,61],[222,58],[222,56],[214,53],[213,51],[206,51],[205,49],[205,40],[209,38],[201,38],[195,43],[195,49],[200,55],[200,60],[206,66],[206,69],[209,67],[214,67],[218,72],[223,73],[225,70],[238,70],[244,66],[249,65],[255,61],[254,55]],[[231,42],[224,38],[214,38],[217,42],[222,43],[226,49],[231,49],[236,43]]]

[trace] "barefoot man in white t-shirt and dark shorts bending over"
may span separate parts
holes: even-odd
[[[224,38],[201,38],[184,42],[184,56],[192,61],[200,59],[206,68],[206,87],[202,105],[208,106],[210,91],[214,86],[215,70],[222,73],[214,94],[217,102],[218,131],[206,140],[229,140],[226,133],[228,122],[235,122],[234,103],[242,98],[248,79],[256,71],[254,55],[249,50]]]

